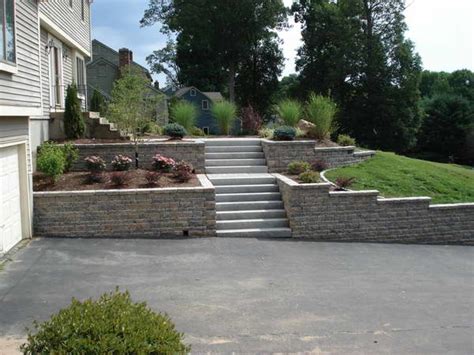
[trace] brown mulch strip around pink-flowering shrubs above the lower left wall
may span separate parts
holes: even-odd
[[[90,183],[88,172],[71,172],[64,174],[59,180],[52,184],[50,179],[41,174],[33,175],[34,191],[82,191],[82,190],[110,190],[110,189],[147,189],[156,187],[195,187],[200,186],[198,178],[193,175],[188,182],[179,182],[171,174],[163,174],[158,185],[150,186],[145,179],[148,170],[138,169],[127,172],[128,183],[124,186],[114,186],[110,182],[113,171],[104,172],[104,182]]]

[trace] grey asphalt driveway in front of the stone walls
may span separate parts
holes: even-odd
[[[0,338],[116,285],[195,352],[474,352],[474,248],[290,240],[34,240],[0,270]]]

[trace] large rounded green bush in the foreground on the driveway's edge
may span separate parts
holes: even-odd
[[[21,350],[25,354],[182,354],[190,351],[183,334],[165,314],[134,303],[128,292],[72,303],[44,323]]]

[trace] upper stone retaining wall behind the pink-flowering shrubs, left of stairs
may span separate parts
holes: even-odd
[[[84,158],[89,155],[99,155],[105,160],[110,168],[110,162],[119,154],[135,157],[133,143],[98,143],[98,144],[76,144],[79,149],[79,159],[74,164],[73,171],[86,169]],[[139,144],[140,167],[150,168],[152,158],[155,154],[161,154],[175,160],[185,160],[191,163],[196,173],[204,173],[204,151],[205,144],[202,140],[182,141],[153,141]]]

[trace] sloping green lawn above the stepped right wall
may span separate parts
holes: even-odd
[[[354,190],[379,190],[384,197],[429,196],[434,203],[474,202],[474,169],[377,152],[361,164],[329,171],[326,177],[355,177]]]

